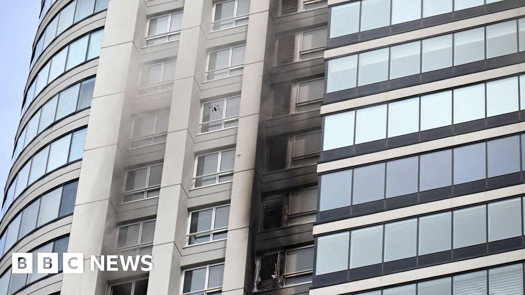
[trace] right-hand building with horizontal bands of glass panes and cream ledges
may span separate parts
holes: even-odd
[[[310,294],[523,294],[525,3],[328,5]]]

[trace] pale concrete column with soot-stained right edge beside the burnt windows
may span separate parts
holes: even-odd
[[[224,266],[224,295],[251,294],[253,289],[250,208],[268,20],[269,0],[251,1]]]

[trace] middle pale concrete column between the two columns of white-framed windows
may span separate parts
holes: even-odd
[[[192,105],[199,103],[201,61],[206,57],[201,28],[204,0],[184,3],[181,38],[173,86],[164,171],[153,241],[148,294],[180,293],[182,247],[185,244],[187,192],[192,184],[194,141],[190,128],[198,123]]]

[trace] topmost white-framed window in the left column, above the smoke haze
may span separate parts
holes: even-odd
[[[176,41],[181,37],[182,12],[148,18],[146,46]]]

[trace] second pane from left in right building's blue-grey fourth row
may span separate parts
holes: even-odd
[[[354,169],[352,205],[377,201],[385,195],[385,164]]]

